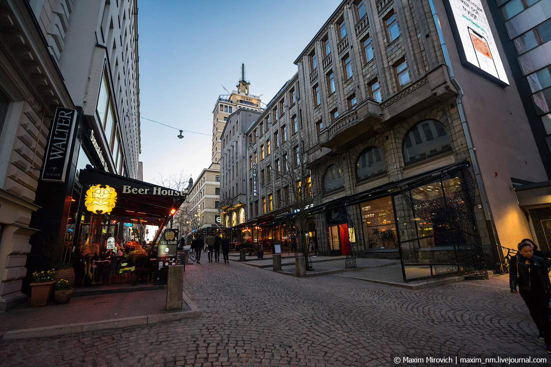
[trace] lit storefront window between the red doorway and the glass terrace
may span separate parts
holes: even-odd
[[[396,225],[392,197],[387,196],[360,204],[361,223],[368,249],[396,249]]]

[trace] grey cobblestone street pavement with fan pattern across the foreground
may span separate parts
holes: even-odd
[[[235,262],[185,276],[200,319],[2,342],[0,364],[387,366],[396,357],[549,355],[507,277],[410,291]]]

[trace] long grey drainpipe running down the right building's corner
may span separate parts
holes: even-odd
[[[433,13],[434,18],[434,24],[436,25],[436,31],[438,33],[438,38],[440,40],[440,46],[442,47],[442,53],[444,54],[444,60],[446,62],[448,74],[450,75],[450,80],[453,83],[453,85],[456,87],[458,91],[458,95],[456,98],[456,104],[457,104],[457,110],[459,111],[459,116],[461,120],[461,126],[463,127],[463,133],[465,135],[465,139],[467,141],[467,147],[469,149],[469,156],[471,158],[471,163],[473,165],[473,171],[474,176],[477,181],[478,185],[478,191],[480,193],[480,199],[482,201],[482,208],[484,210],[484,219],[486,220],[486,224],[488,227],[488,233],[490,235],[490,241],[493,242],[496,246],[499,245],[499,237],[498,233],[495,229],[494,225],[494,219],[491,214],[490,207],[488,205],[488,197],[486,195],[486,191],[484,188],[484,182],[482,181],[482,175],[480,174],[480,166],[478,165],[478,159],[476,154],[476,148],[473,147],[473,141],[471,139],[471,133],[469,132],[469,127],[467,125],[467,117],[465,115],[465,110],[463,108],[463,88],[461,88],[461,85],[459,84],[458,80],[456,79],[455,75],[453,74],[453,68],[451,66],[450,61],[450,55],[447,52],[447,46],[446,42],[444,40],[444,35],[442,34],[442,29],[440,28],[440,20],[438,19],[438,15],[436,14],[436,10],[434,8],[434,2],[433,0],[428,0],[430,4],[430,10]],[[501,251],[496,251],[497,247],[494,246],[494,255],[498,255],[497,258],[501,259],[503,257],[503,254]]]

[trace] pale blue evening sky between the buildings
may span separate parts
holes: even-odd
[[[250,93],[264,103],[290,79],[339,0],[138,0],[138,55],[144,181],[182,171],[197,178],[212,158],[212,111],[236,89],[245,63]]]

